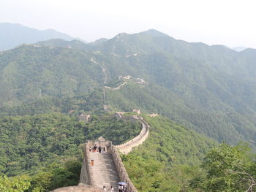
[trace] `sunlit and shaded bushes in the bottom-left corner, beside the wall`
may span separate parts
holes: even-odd
[[[45,192],[56,188],[78,185],[81,161],[70,159],[64,164],[50,164],[37,172],[19,177],[0,177],[0,191]]]

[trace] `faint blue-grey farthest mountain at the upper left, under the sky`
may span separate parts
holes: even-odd
[[[53,29],[37,30],[15,23],[0,23],[0,51],[12,49],[21,44],[31,44],[56,38],[74,39]]]

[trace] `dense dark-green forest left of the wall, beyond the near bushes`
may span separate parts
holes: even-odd
[[[140,126],[108,116],[83,123],[59,113],[0,118],[0,172],[14,176],[70,157],[81,159],[78,146],[86,139],[103,136],[119,144],[138,135]]]

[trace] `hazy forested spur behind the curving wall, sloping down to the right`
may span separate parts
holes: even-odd
[[[154,83],[148,82],[141,86],[129,82],[120,90],[106,90],[106,102],[115,110],[140,109],[142,112],[165,115],[219,142],[227,141],[235,145],[240,141],[246,141],[255,145],[255,126],[241,113],[203,110],[200,107],[193,110],[172,91]]]

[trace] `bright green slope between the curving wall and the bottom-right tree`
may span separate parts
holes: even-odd
[[[129,155],[125,167],[139,191],[188,191],[204,172],[199,164],[216,142],[163,117],[146,118],[150,137]]]

